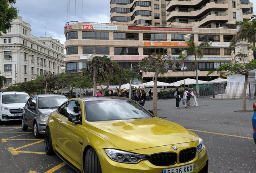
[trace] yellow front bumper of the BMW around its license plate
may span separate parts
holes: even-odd
[[[177,162],[175,165],[169,166],[156,166],[147,160],[140,161],[139,163],[136,164],[120,163],[111,160],[106,155],[104,149],[95,150],[98,153],[102,173],[163,173],[163,169],[181,167],[189,165],[191,163],[194,164],[194,171],[192,173],[208,173],[208,156],[206,147],[204,147],[204,149],[200,153],[196,152],[196,157],[191,161],[188,161],[186,163]]]

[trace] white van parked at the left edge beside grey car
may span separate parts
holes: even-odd
[[[5,121],[21,120],[23,107],[28,99],[26,92],[0,91],[0,125]]]

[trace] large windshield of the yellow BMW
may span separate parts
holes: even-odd
[[[111,121],[153,117],[134,101],[109,100],[85,102],[87,121]]]

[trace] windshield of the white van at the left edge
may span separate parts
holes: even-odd
[[[2,103],[26,103],[29,95],[2,95]]]

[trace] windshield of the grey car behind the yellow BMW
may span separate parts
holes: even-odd
[[[66,97],[39,97],[38,98],[38,108],[39,109],[51,109],[58,108],[62,103],[67,101]]]

